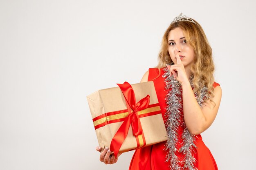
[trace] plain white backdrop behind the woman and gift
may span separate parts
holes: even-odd
[[[99,162],[86,96],[138,83],[183,12],[213,48],[222,102],[202,137],[220,170],[255,169],[256,3],[0,0],[0,169],[127,170]]]

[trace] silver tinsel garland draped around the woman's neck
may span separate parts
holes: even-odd
[[[170,65],[173,65],[170,64]],[[182,102],[182,86],[181,84],[172,76],[170,76],[170,70],[166,67],[164,68],[165,78],[165,89],[168,91],[166,94],[166,131],[168,135],[168,140],[165,144],[168,154],[166,155],[166,161],[170,161],[170,170],[197,170],[195,167],[195,158],[193,157],[193,152],[195,152],[195,135],[192,135],[186,127],[183,116],[183,102]],[[193,88],[193,76],[190,78],[190,84]],[[200,89],[200,96],[195,93],[195,98],[198,105],[202,107],[202,103],[205,99],[209,98],[207,87]],[[183,128],[184,131],[180,136],[178,134],[178,129]],[[182,139],[182,142],[179,141]],[[179,143],[180,142],[180,143]],[[178,147],[178,144],[181,147]],[[177,156],[177,152],[182,153],[183,157]]]

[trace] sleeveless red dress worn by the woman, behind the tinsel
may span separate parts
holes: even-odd
[[[158,68],[149,69],[148,81],[154,82],[157,98],[164,117],[164,113],[166,112],[165,96],[167,91],[164,89],[165,83],[164,78],[162,77],[164,70],[160,69],[160,74],[158,70]],[[215,82],[213,84],[214,87],[218,85],[219,84]],[[179,130],[180,135],[182,134],[182,131],[183,129]],[[196,135],[195,139],[195,144],[197,146],[193,155],[196,159],[195,167],[198,168],[198,170],[218,170],[210,150],[202,141],[201,135]],[[129,170],[170,170],[170,162],[166,162],[168,151],[164,150],[164,144],[165,142],[161,142],[135,150]]]

